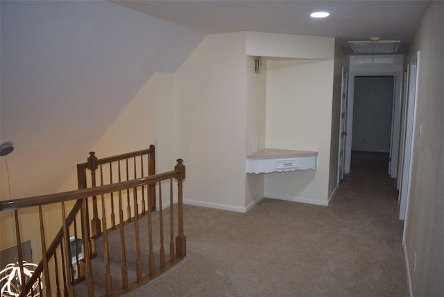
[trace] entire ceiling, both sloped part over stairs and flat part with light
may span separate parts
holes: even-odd
[[[408,45],[427,6],[334,0],[0,3],[0,142],[15,143],[8,156],[11,198],[56,192],[148,78],[176,71],[207,34],[337,37],[346,49],[347,40],[378,35]],[[330,17],[310,19],[318,9]]]

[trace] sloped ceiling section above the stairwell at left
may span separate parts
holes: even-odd
[[[203,37],[107,1],[2,0],[0,141],[15,146],[11,198],[57,192],[148,78],[176,71]]]

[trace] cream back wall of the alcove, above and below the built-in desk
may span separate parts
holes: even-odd
[[[266,147],[318,151],[317,169],[266,176],[266,196],[327,205],[333,60],[268,60]]]

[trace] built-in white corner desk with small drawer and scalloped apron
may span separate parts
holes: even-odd
[[[317,151],[264,148],[247,155],[247,173],[271,173],[316,169]]]

